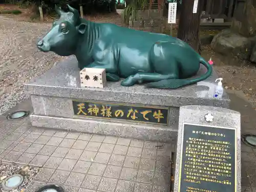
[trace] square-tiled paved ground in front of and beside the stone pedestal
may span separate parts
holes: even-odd
[[[255,111],[230,94],[231,109],[242,114],[242,133],[256,134]],[[10,110],[32,110],[30,101]],[[9,113],[9,112],[8,112]],[[6,113],[7,114],[7,113]],[[4,114],[4,115],[6,115]],[[2,163],[42,167],[26,191],[46,183],[68,192],[168,191],[170,145],[118,137],[69,133],[31,127],[29,118],[8,121],[0,116]],[[242,143],[242,192],[256,192],[256,149]]]

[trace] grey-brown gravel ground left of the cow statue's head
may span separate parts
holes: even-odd
[[[39,52],[37,39],[51,24],[17,22],[0,16],[0,114],[28,98],[24,83],[51,68],[61,57]]]

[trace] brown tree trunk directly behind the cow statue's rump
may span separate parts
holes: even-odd
[[[193,49],[201,54],[199,37],[201,8],[203,1],[199,0],[197,13],[193,13],[193,0],[183,0],[179,19],[178,38],[187,42]]]

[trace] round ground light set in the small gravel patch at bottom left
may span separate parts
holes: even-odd
[[[22,175],[12,175],[7,177],[2,182],[2,187],[4,190],[16,189],[19,185],[23,183],[24,177]]]

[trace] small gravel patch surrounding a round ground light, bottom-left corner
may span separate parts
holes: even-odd
[[[13,192],[21,191],[23,192],[28,184],[33,180],[36,174],[39,172],[40,168],[30,167],[30,166],[17,166],[17,165],[9,165],[3,164],[0,166],[0,182],[4,181],[5,178],[12,176],[14,174],[20,174],[24,177],[24,181],[22,185],[20,185],[17,189],[13,189]],[[1,192],[8,192],[2,188],[2,184],[0,185]]]

